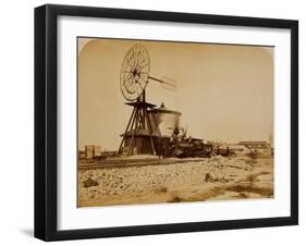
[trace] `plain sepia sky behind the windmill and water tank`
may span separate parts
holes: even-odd
[[[150,76],[147,101],[182,113],[187,135],[205,140],[268,140],[273,131],[273,48],[78,38],[78,147],[117,150],[132,108],[120,90],[126,51],[143,44]]]

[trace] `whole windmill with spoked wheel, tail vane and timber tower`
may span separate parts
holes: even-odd
[[[136,137],[142,135],[149,138],[150,152],[156,156],[156,137],[160,136],[157,119],[149,115],[148,111],[156,106],[146,101],[146,87],[149,82],[158,82],[163,86],[175,87],[167,79],[159,79],[150,75],[149,53],[144,45],[132,46],[122,62],[120,73],[120,88],[123,97],[127,100],[125,104],[133,107],[122,140],[119,155],[123,152],[131,156],[137,146]]]

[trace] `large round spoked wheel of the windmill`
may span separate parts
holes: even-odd
[[[149,71],[149,53],[145,46],[132,46],[124,57],[120,73],[120,88],[126,100],[134,101],[140,97],[148,84]]]

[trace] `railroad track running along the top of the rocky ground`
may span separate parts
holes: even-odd
[[[101,162],[79,162],[78,170],[86,169],[105,169],[105,168],[127,168],[142,165],[157,165],[157,164],[175,164],[184,162],[199,162],[207,158],[184,158],[184,159],[120,159],[106,160]]]

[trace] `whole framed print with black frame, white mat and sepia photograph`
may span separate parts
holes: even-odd
[[[35,9],[35,236],[298,221],[298,24]]]

